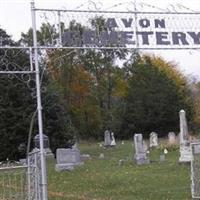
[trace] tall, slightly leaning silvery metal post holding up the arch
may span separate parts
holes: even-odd
[[[36,92],[37,92],[37,111],[38,111],[38,127],[40,136],[40,160],[41,160],[41,196],[42,200],[47,200],[47,175],[46,175],[46,160],[44,155],[43,143],[43,123],[42,123],[42,105],[40,92],[40,72],[38,63],[37,49],[37,33],[36,33],[36,16],[34,0],[31,1],[31,15],[33,28],[33,46],[34,46],[34,61],[35,61],[35,77],[36,77]]]

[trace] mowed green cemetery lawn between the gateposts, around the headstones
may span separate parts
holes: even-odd
[[[191,200],[190,165],[178,164],[178,150],[169,151],[159,162],[161,150],[150,153],[149,165],[133,162],[133,146],[125,141],[115,148],[103,149],[97,143],[83,143],[81,154],[91,160],[74,171],[56,172],[48,161],[50,200]],[[103,153],[105,159],[100,160]],[[124,165],[119,166],[120,159]]]

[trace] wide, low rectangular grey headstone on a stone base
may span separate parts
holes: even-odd
[[[56,150],[56,171],[73,170],[79,165],[83,165],[83,162],[81,162],[78,149],[61,148]]]

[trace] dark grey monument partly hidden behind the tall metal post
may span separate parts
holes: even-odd
[[[43,134],[43,143],[44,143],[44,153],[46,158],[54,158],[54,154],[52,153],[50,146],[49,146],[49,138],[47,135]],[[34,146],[37,149],[40,149],[40,135],[37,134],[34,137]]]

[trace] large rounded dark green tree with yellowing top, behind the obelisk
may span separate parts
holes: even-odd
[[[185,109],[192,117],[186,79],[175,65],[159,57],[138,56],[130,68],[129,89],[122,126],[123,136],[134,132],[146,136],[152,131],[163,136],[179,128],[179,111]]]

